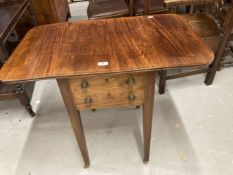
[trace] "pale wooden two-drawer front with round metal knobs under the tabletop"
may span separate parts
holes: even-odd
[[[141,105],[144,73],[102,75],[69,80],[78,109]]]

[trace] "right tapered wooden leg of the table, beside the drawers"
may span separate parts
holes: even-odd
[[[143,106],[144,162],[149,161],[151,128],[154,106],[155,72],[145,73],[145,92]]]

